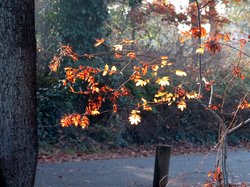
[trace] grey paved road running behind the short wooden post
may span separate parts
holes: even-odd
[[[204,156],[172,156],[169,186],[201,186],[216,160],[215,154]],[[152,187],[153,168],[154,158],[39,164],[35,187]],[[233,182],[250,186],[250,152],[229,152],[228,171]]]

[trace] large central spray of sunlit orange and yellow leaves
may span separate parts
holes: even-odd
[[[104,45],[104,39],[96,39],[95,47]],[[105,44],[108,46],[108,44]],[[149,83],[158,85],[158,91],[154,96],[153,101],[148,102],[146,99],[141,98],[141,102],[138,102],[136,109],[132,110],[129,120],[131,124],[137,125],[140,122],[140,109],[142,110],[152,110],[152,106],[159,104],[176,103],[180,110],[186,108],[186,99],[198,98],[196,92],[187,92],[183,89],[183,85],[173,86],[171,85],[170,76],[158,76],[159,71],[168,72],[169,74],[175,72],[175,76],[187,76],[187,73],[182,70],[174,70],[171,68],[172,64],[168,61],[167,56],[161,56],[160,58],[155,58],[154,63],[146,62],[140,59],[140,54],[136,54],[135,51],[127,51],[122,48],[125,46],[135,45],[132,40],[123,40],[120,44],[110,46],[113,50],[114,58],[124,58],[129,61],[120,71],[117,70],[115,66],[111,69],[109,65],[105,65],[103,68],[93,68],[89,66],[81,65],[78,68],[65,67],[66,78],[63,80],[63,84],[68,86],[70,91],[76,94],[83,94],[88,96],[88,104],[85,108],[85,113],[82,117],[73,114],[65,116],[61,120],[63,126],[69,126],[71,124],[80,125],[83,128],[88,126],[89,121],[86,120],[89,115],[98,115],[102,111],[101,107],[104,102],[111,102],[113,105],[113,112],[117,112],[117,100],[120,97],[130,96],[130,91],[126,88],[126,83],[129,81],[134,82],[136,87],[144,87]],[[77,55],[72,51],[69,46],[62,46],[59,55],[56,55],[52,62],[50,63],[50,68],[52,71],[56,71],[60,65],[61,59],[67,56],[72,60],[77,60],[80,57],[83,58],[95,58],[95,54],[84,54]],[[153,57],[150,57],[151,59]],[[126,82],[121,83],[119,88],[111,88],[107,85],[102,85],[98,82],[98,76],[122,76],[122,72],[128,68],[132,67],[133,71]],[[173,78],[173,77],[172,77]],[[83,88],[75,88],[75,83],[81,81]]]

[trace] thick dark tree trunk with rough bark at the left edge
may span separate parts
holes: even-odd
[[[34,186],[37,165],[33,0],[0,1],[0,186]]]

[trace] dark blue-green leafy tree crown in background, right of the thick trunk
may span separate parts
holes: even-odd
[[[103,0],[59,0],[52,4],[47,19],[50,32],[62,43],[89,50],[96,37],[103,35],[102,26],[107,19],[107,3]]]

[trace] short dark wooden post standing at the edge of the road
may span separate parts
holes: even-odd
[[[171,146],[169,145],[156,147],[153,187],[165,187],[168,183],[170,150]]]

